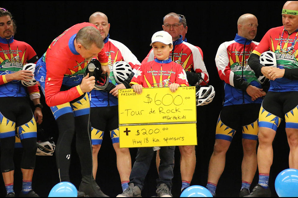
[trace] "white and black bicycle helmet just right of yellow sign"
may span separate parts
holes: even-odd
[[[215,96],[215,90],[212,85],[208,87],[202,87],[201,85],[196,85],[196,101],[197,106],[208,105],[212,102]]]

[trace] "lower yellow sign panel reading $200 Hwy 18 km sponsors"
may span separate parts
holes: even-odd
[[[197,145],[196,123],[119,126],[120,148]]]

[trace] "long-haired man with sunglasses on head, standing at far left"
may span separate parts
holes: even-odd
[[[12,15],[0,8],[0,139],[1,172],[7,197],[15,197],[14,184],[14,146],[19,136],[23,147],[21,171],[23,175],[20,197],[38,197],[32,190],[32,177],[35,168],[37,149],[37,126],[42,122],[40,94],[38,85],[26,87],[21,80],[29,82],[34,74],[22,70],[26,63],[36,63],[38,57],[27,43],[14,39],[16,24]],[[36,108],[32,113],[27,91]],[[35,118],[36,119],[35,121]]]

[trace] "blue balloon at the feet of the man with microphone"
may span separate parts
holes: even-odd
[[[70,182],[57,183],[49,193],[48,197],[77,197],[78,191]]]

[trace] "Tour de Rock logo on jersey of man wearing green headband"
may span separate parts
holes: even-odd
[[[271,38],[271,46],[273,47],[272,51],[276,55],[276,62],[279,66],[285,67],[285,68],[298,68],[298,50],[293,49],[291,46],[294,41],[294,39],[281,39],[279,36],[279,39],[275,39],[278,42],[276,43],[276,46],[274,46],[273,39]],[[282,40],[282,43],[284,43],[282,49],[280,49],[280,41]]]

